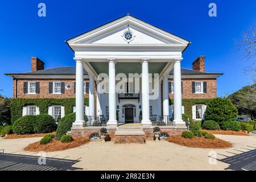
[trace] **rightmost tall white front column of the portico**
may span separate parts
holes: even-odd
[[[174,126],[185,126],[182,120],[182,98],[181,98],[181,69],[180,61],[174,61]]]

